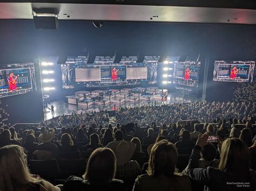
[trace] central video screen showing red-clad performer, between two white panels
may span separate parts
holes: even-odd
[[[100,83],[126,82],[126,65],[101,65]]]

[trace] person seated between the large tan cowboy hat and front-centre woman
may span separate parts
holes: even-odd
[[[142,166],[146,161],[146,153],[142,152],[142,144],[138,137],[133,137],[131,142],[136,144],[131,160],[136,160],[138,164]]]

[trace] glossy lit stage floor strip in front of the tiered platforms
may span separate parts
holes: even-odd
[[[155,102],[156,101],[156,102]],[[180,93],[169,93],[166,96],[166,99],[164,102],[161,100],[138,100],[136,103],[131,102],[131,101],[123,101],[119,104],[118,103],[109,103],[104,105],[96,105],[92,104],[90,107],[87,109],[87,105],[77,105],[77,104],[69,104],[65,103],[64,100],[62,101],[55,101],[55,102],[50,102],[50,105],[53,105],[54,110],[55,110],[55,115],[54,117],[61,116],[61,115],[70,115],[73,113],[75,114],[80,114],[80,112],[89,112],[89,111],[99,111],[102,109],[107,109],[107,110],[114,110],[116,106],[116,110],[119,107],[137,107],[140,105],[145,105],[145,104],[156,104],[156,105],[161,105],[161,104],[169,104],[169,103],[190,103],[190,102],[195,102],[195,101],[201,101],[200,98],[197,98],[195,95],[181,95]],[[44,114],[44,120],[48,120],[53,118],[51,114],[51,109],[50,105],[48,104],[48,108],[46,108],[46,112]]]

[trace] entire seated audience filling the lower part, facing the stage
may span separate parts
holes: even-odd
[[[255,114],[194,102],[4,126],[0,190],[255,190]]]

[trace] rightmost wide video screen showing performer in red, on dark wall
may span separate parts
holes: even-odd
[[[252,82],[254,61],[215,61],[213,81]]]

